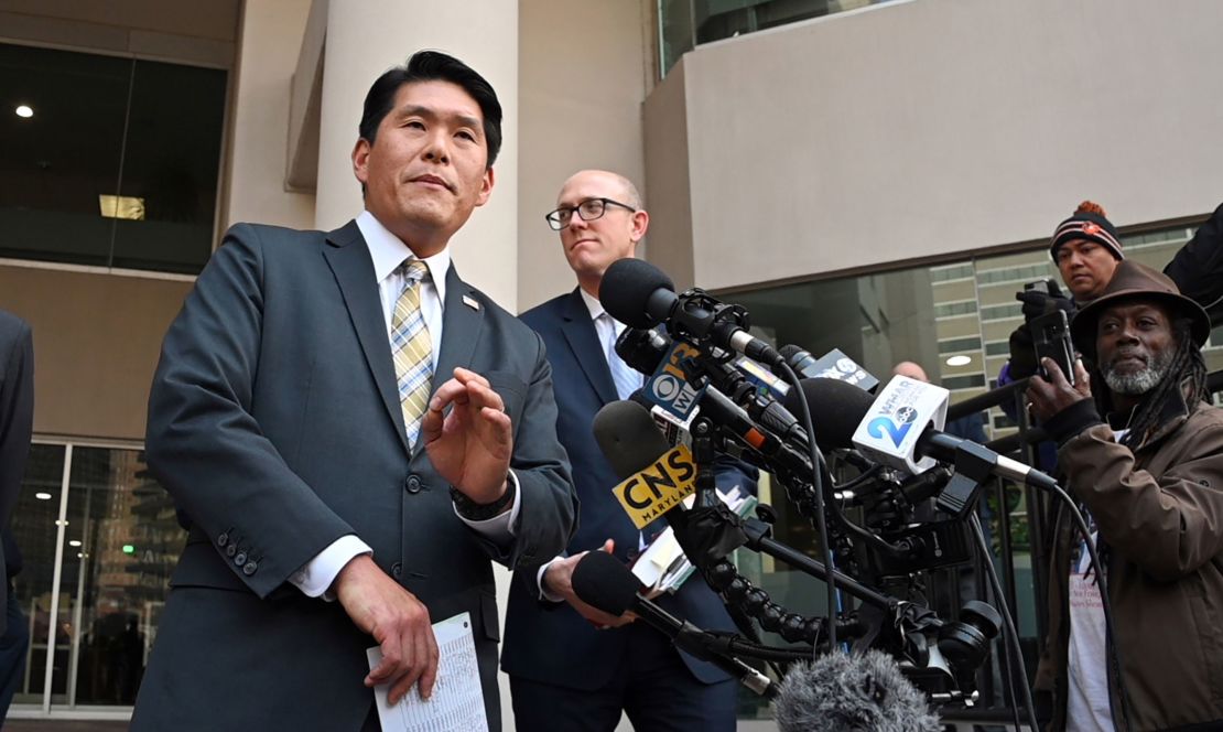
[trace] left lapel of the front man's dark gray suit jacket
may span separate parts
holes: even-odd
[[[382,299],[378,295],[378,283],[374,279],[374,264],[369,258],[369,248],[356,222],[349,222],[342,229],[327,235],[330,246],[323,250],[327,263],[340,285],[344,304],[349,308],[352,327],[361,340],[369,373],[378,384],[386,413],[395,425],[399,441],[407,452],[407,428],[404,427],[404,411],[399,403],[399,387],[395,379],[395,364],[390,355],[390,340],[386,337],[386,316],[383,313]]]

